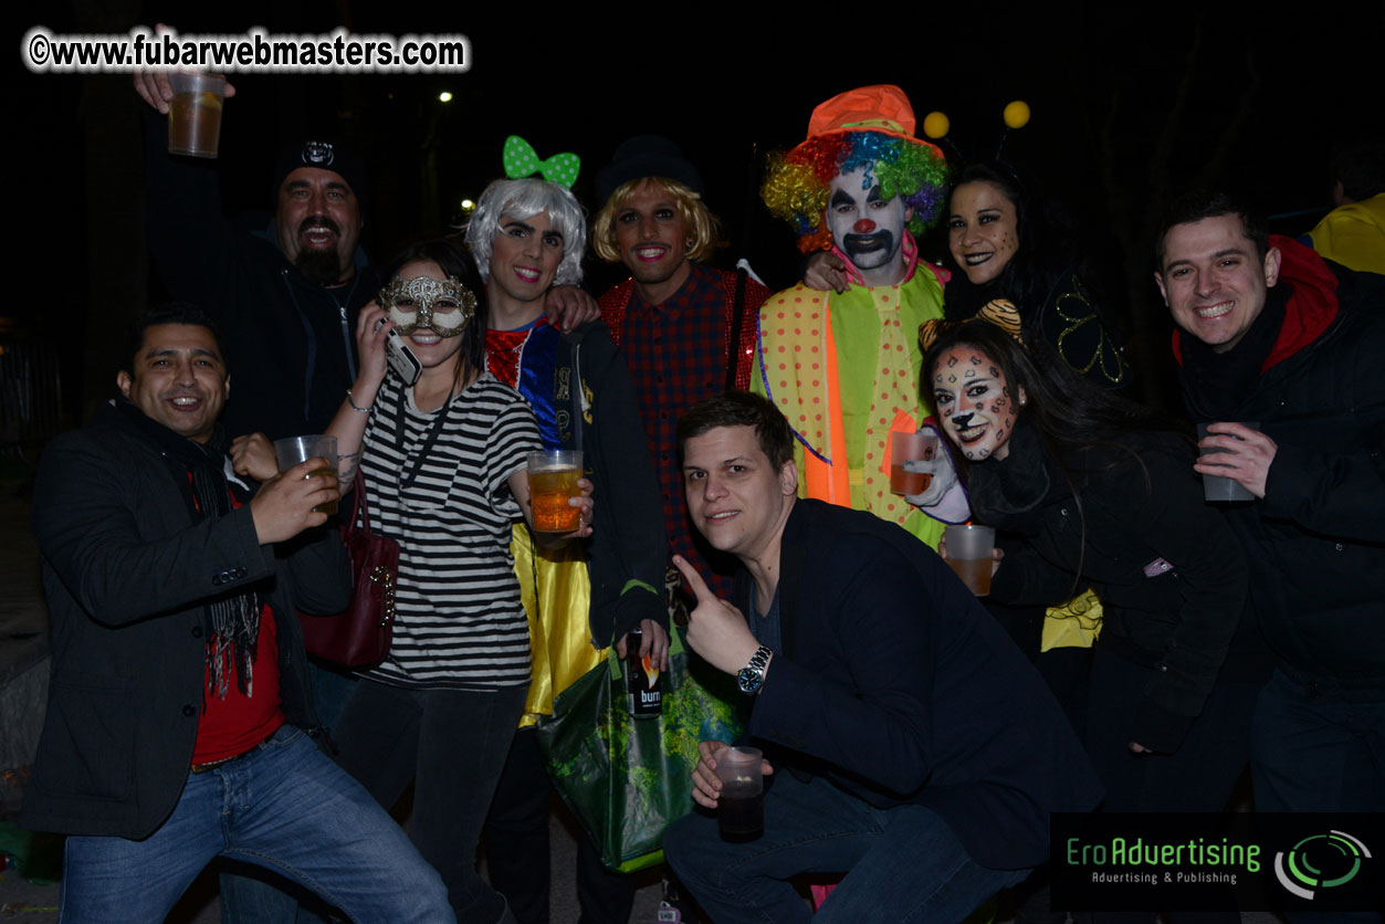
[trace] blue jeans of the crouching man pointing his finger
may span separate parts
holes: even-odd
[[[711,815],[694,812],[663,835],[683,885],[716,924],[848,924],[967,917],[1029,876],[989,870],[921,805],[877,809],[831,783],[802,783],[780,770],[765,792],[765,834],[729,844]],[[789,878],[848,873],[813,916]]]

